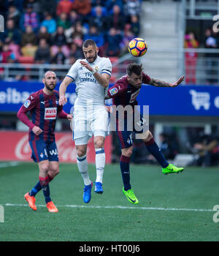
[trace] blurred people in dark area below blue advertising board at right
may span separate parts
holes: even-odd
[[[151,127],[153,129],[153,125]],[[169,162],[173,162],[180,152],[183,152],[183,154],[191,156],[188,160],[183,160],[186,166],[219,166],[219,127],[213,127],[211,134],[204,132],[203,127],[184,127],[182,129],[185,136],[184,144],[180,143],[180,135],[173,127],[166,127],[166,132],[159,134],[159,148],[164,157]],[[119,162],[120,147],[114,133],[112,133],[112,139],[112,162]],[[132,163],[157,165],[157,161],[147,151],[142,140],[137,140],[133,136],[133,145]]]

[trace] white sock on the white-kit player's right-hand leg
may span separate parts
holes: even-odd
[[[104,167],[105,167],[105,151],[104,148],[95,148],[96,151],[96,182],[103,183]]]

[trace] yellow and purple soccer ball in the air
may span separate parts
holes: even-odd
[[[134,57],[142,57],[147,52],[147,42],[142,38],[136,37],[129,42],[128,51]]]

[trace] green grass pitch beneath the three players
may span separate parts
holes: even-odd
[[[0,241],[219,240],[219,222],[213,221],[217,213],[213,207],[219,205],[217,167],[186,167],[183,173],[164,176],[161,167],[131,165],[138,205],[123,195],[118,164],[106,165],[104,193],[96,194],[93,187],[88,204],[82,201],[77,165],[61,163],[60,169],[50,183],[51,198],[59,210],[52,214],[42,191],[36,196],[37,211],[23,200],[38,181],[37,164],[0,162],[0,205],[4,208]],[[94,165],[89,165],[89,173],[95,181]]]

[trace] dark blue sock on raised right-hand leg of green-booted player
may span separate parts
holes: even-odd
[[[166,161],[164,154],[161,152],[161,149],[158,148],[158,145],[153,138],[150,141],[145,142],[145,146],[163,168],[166,168],[169,165],[169,162]]]

